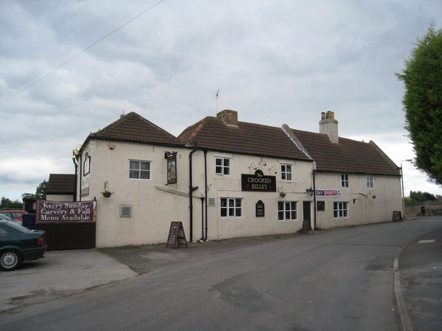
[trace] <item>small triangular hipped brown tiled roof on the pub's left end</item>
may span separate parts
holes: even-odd
[[[157,143],[181,146],[177,137],[135,112],[129,112],[106,128],[89,134],[88,139],[128,141],[133,143]],[[86,139],[87,140],[87,139]]]

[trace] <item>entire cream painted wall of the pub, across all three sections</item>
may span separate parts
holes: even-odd
[[[164,152],[177,152],[177,184],[166,185],[166,159]],[[191,239],[189,217],[189,197],[174,192],[189,193],[189,153],[191,148],[169,148],[137,143],[115,142],[115,148],[108,147],[108,141],[91,140],[83,154],[90,156],[90,194],[81,197],[82,201],[97,199],[97,247],[165,243],[171,221],[182,221],[188,241]],[[215,174],[215,157],[231,160],[230,174]],[[151,179],[130,179],[129,160],[151,162]],[[204,197],[204,152],[193,154],[193,183],[198,186],[193,191],[193,241],[204,237],[203,209]],[[208,239],[227,239],[264,234],[284,234],[298,231],[302,226],[302,202],[310,201],[312,225],[314,223],[314,198],[306,193],[313,187],[314,163],[289,159],[261,158],[244,154],[207,152],[207,198],[214,205],[207,209]],[[266,165],[263,165],[263,163]],[[290,164],[291,181],[282,181],[280,165]],[[276,176],[278,192],[243,192],[241,174],[253,174],[253,165],[265,175]],[[277,170],[277,174],[273,173]],[[78,183],[81,181],[79,166]],[[100,192],[107,181],[110,198]],[[344,225],[358,225],[390,221],[393,210],[401,210],[400,177],[374,176],[374,188],[367,188],[364,174],[349,174],[349,188],[340,187],[340,174],[316,172],[317,189],[341,191],[341,197],[319,198],[325,201],[325,211],[316,212],[316,226],[332,228]],[[285,192],[280,197],[279,192]],[[362,195],[365,194],[365,196]],[[376,199],[372,197],[376,195]],[[221,217],[220,199],[242,199],[242,217]],[[79,199],[79,197],[77,198]],[[265,217],[256,217],[256,203],[265,203]],[[296,201],[297,219],[278,220],[278,201]],[[349,216],[334,219],[333,202],[346,201]],[[208,201],[209,202],[209,201]],[[209,203],[208,203],[209,204]],[[132,217],[120,217],[120,205],[131,205]]]

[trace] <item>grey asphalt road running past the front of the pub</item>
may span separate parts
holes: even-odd
[[[398,330],[394,259],[441,226],[109,249],[140,276],[3,312],[0,330]]]

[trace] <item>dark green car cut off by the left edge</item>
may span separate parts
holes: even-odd
[[[1,270],[16,270],[22,261],[44,257],[47,249],[44,231],[30,230],[15,222],[0,219]]]

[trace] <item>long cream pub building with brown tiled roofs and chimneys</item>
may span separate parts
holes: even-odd
[[[223,110],[174,137],[130,112],[89,134],[75,153],[76,200],[97,199],[97,247],[164,243],[171,221],[197,241],[391,220],[398,167],[322,117],[313,133]]]

